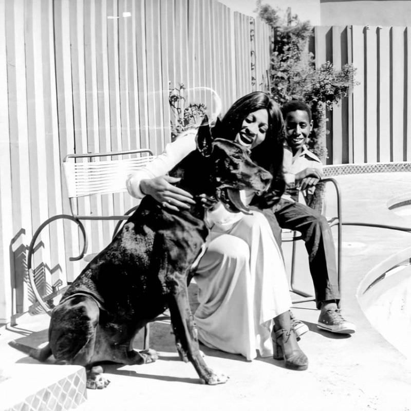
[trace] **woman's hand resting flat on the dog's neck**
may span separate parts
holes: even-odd
[[[180,178],[170,176],[145,179],[140,182],[140,190],[143,194],[152,196],[164,208],[174,211],[189,210],[196,202],[188,191],[173,185],[178,181]]]

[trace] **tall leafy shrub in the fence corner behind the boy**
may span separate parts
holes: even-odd
[[[313,35],[309,21],[302,22],[297,15],[283,17],[278,8],[263,5],[261,0],[257,1],[256,12],[274,32],[269,92],[280,105],[302,100],[311,106],[314,130],[308,145],[324,161],[326,109],[332,110],[358,84],[354,81],[356,68],[346,64],[338,70],[330,62],[316,68],[314,54],[309,51]]]

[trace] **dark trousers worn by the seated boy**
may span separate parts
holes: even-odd
[[[326,300],[340,301],[335,249],[331,229],[324,216],[304,204],[281,199],[274,215],[279,227],[299,231],[308,252],[317,308]],[[273,221],[270,221],[273,228]]]

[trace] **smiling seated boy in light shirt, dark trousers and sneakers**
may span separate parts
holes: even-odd
[[[286,127],[283,163],[286,190],[274,214],[281,228],[302,233],[316,305],[321,310],[317,327],[350,334],[356,327],[338,309],[340,290],[331,230],[324,216],[298,202],[300,192],[310,200],[315,184],[322,177],[321,161],[306,146],[312,131],[311,109],[302,101],[290,101],[284,104],[282,112]]]

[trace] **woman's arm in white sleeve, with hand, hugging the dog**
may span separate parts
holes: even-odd
[[[173,185],[179,181],[178,178],[165,174],[184,157],[196,150],[196,135],[197,130],[188,130],[183,133],[173,143],[166,145],[164,153],[130,175],[126,182],[128,193],[139,199],[145,195],[151,195],[157,201],[165,202],[168,208],[176,211],[179,208],[190,208],[188,204],[194,203],[192,195]]]

